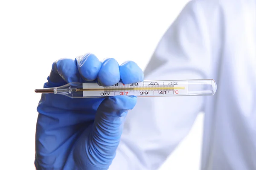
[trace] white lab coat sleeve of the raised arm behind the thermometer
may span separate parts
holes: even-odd
[[[190,1],[165,32],[145,69],[146,80],[211,78],[207,10],[200,2]],[[207,97],[138,98],[109,169],[157,170],[189,133]]]

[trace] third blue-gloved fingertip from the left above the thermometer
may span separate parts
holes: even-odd
[[[119,64],[113,59],[106,59],[98,73],[98,84],[111,86],[120,81]]]

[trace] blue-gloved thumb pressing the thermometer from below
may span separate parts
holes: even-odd
[[[85,131],[74,150],[74,161],[78,167],[88,170],[108,169],[116,154],[125,116],[136,102],[137,97],[114,96],[99,105],[89,135]]]

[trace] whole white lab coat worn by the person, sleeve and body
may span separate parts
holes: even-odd
[[[138,98],[110,170],[157,170],[201,111],[201,169],[256,170],[256,0],[190,1],[145,69],[147,80],[205,78],[214,96]]]

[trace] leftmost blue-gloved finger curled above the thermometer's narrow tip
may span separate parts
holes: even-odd
[[[59,59],[52,64],[52,70],[48,77],[48,84],[64,85],[70,82],[80,82],[76,62],[73,59]]]

